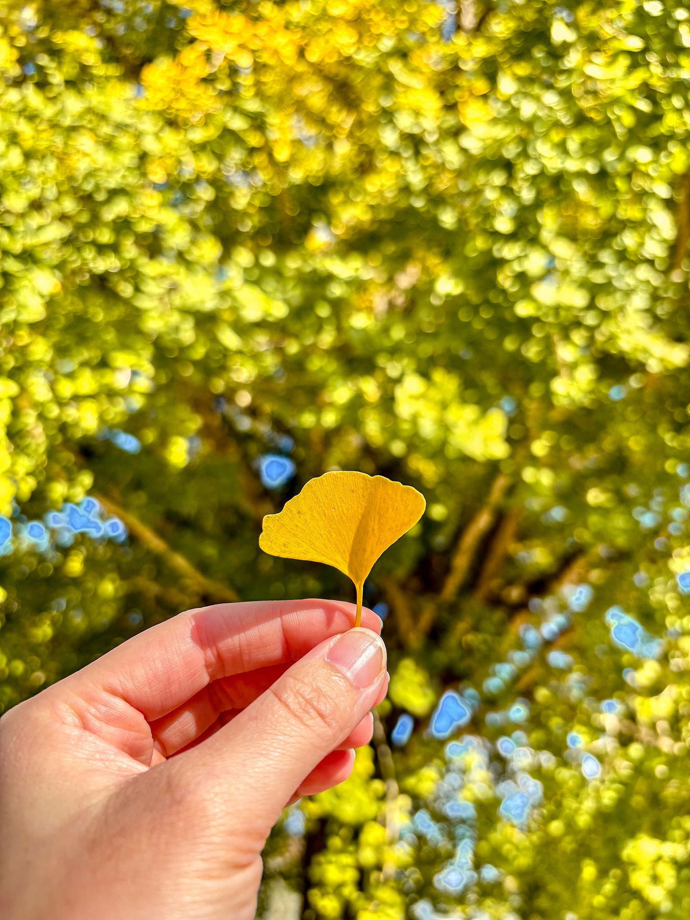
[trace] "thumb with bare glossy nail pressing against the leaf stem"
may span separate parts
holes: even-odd
[[[377,702],[385,645],[370,629],[332,636],[205,742],[175,758],[232,823],[265,836],[305,777]],[[201,781],[201,784],[200,784]]]

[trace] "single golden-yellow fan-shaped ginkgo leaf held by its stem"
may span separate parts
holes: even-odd
[[[279,514],[267,514],[259,546],[271,556],[325,562],[354,581],[362,618],[364,580],[377,558],[424,512],[424,496],[383,476],[324,473]]]

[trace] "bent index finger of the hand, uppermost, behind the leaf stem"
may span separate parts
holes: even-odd
[[[98,705],[98,693],[160,719],[221,677],[298,661],[324,639],[354,625],[355,604],[247,601],[178,614],[123,642],[59,686]],[[362,627],[381,620],[362,609]]]

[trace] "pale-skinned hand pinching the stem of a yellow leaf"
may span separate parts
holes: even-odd
[[[385,696],[381,621],[219,604],[0,719],[4,920],[253,920],[282,809],[350,775]]]

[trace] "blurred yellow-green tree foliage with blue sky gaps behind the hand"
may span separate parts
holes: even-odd
[[[267,917],[690,910],[672,6],[0,6],[0,706],[191,606],[351,600],[259,551],[310,477],[427,499]]]

